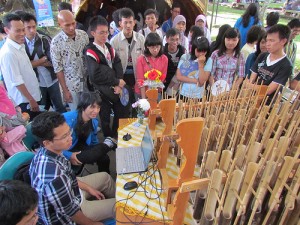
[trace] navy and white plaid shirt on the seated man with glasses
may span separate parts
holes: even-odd
[[[29,174],[38,192],[38,224],[74,225],[71,217],[80,210],[81,196],[71,163],[63,156],[41,148]]]

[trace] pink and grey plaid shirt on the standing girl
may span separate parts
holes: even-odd
[[[218,56],[219,50],[212,53],[213,61],[211,75],[215,81],[225,80],[230,88],[236,76],[245,77],[245,59],[243,54],[239,58],[223,54]]]

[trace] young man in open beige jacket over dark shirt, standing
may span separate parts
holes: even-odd
[[[133,30],[135,25],[134,13],[129,8],[120,10],[120,26],[122,31],[113,37],[110,41],[116,53],[120,56],[124,81],[130,87],[129,101],[135,102],[134,85],[136,81],[136,61],[144,52],[145,38]]]

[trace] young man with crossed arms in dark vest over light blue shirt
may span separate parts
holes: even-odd
[[[39,78],[42,93],[42,104],[49,110],[52,103],[55,111],[66,112],[63,105],[57,76],[53,70],[50,56],[51,40],[37,33],[37,21],[34,15],[24,13],[22,20],[25,26],[25,50],[32,67]]]

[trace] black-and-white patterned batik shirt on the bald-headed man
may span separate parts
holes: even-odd
[[[86,80],[86,65],[83,49],[89,43],[85,31],[76,30],[75,38],[69,38],[63,31],[58,33],[51,42],[51,58],[54,72],[64,72],[68,89],[82,92]]]

